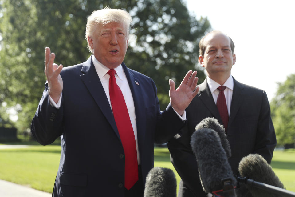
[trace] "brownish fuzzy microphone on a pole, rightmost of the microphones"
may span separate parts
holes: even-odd
[[[246,188],[254,197],[295,196],[294,192],[284,189],[283,183],[261,155],[249,154],[243,157],[238,170],[242,177],[246,177],[238,177],[238,181],[246,183]]]

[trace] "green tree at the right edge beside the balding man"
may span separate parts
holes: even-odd
[[[277,135],[277,144],[295,143],[295,74],[278,83],[276,97],[271,102],[271,116]]]

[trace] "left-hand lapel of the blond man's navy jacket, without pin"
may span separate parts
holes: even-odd
[[[116,132],[117,136],[120,139],[120,135],[116,126],[116,122],[112,113],[112,109],[108,102],[108,98],[105,94],[104,88],[100,82],[100,79],[97,75],[95,67],[92,63],[92,56],[84,63],[82,67],[82,74],[80,75],[85,86],[89,90],[90,94],[96,101],[96,104],[99,106],[100,110],[112,126],[113,130]]]

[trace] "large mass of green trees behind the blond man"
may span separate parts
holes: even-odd
[[[178,86],[188,70],[197,70],[199,39],[210,30],[206,18],[195,19],[181,0],[1,0],[0,1],[0,126],[9,111],[26,131],[44,90],[44,51],[55,62],[71,66],[90,56],[85,40],[87,17],[106,6],[123,8],[133,17],[124,62],[154,79],[161,109],[169,103],[169,83]],[[1,104],[2,103],[2,104]]]

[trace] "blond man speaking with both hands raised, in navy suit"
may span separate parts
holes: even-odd
[[[154,142],[167,142],[183,127],[185,109],[198,93],[196,71],[160,111],[153,80],[123,60],[132,19],[105,8],[87,20],[89,59],[63,68],[45,49],[45,90],[31,131],[43,145],[61,136],[61,160],[53,197],[143,196],[154,165]]]

